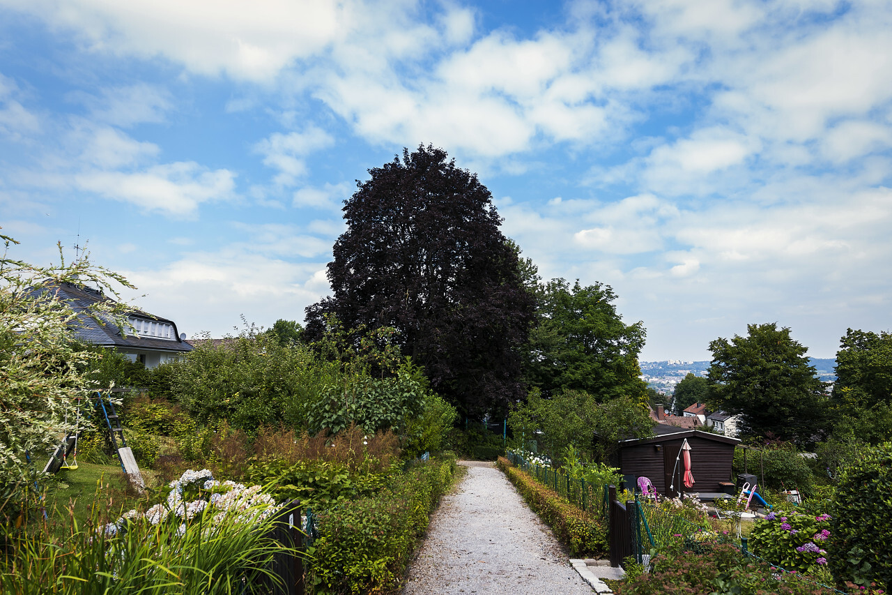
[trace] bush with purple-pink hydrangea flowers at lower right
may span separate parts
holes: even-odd
[[[749,536],[756,556],[787,570],[812,574],[827,564],[830,515],[772,512],[757,521]]]

